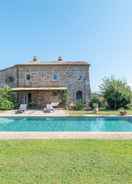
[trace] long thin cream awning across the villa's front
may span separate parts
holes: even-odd
[[[67,90],[66,87],[38,87],[38,88],[12,88],[12,91],[64,91]]]

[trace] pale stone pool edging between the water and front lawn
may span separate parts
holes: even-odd
[[[0,140],[34,139],[132,140],[132,132],[0,132]]]

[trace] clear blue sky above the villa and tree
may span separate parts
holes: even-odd
[[[93,91],[111,75],[132,86],[131,0],[0,0],[0,69],[37,56],[86,60]]]

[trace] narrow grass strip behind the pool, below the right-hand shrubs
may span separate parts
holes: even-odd
[[[71,111],[67,110],[66,114],[71,116],[83,116],[83,115],[120,115],[119,111],[100,110],[97,114],[93,111]],[[127,110],[128,115],[132,115],[132,110]]]

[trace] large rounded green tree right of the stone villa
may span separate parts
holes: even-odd
[[[125,81],[114,77],[104,78],[100,90],[109,109],[127,108],[131,104],[132,91]]]

